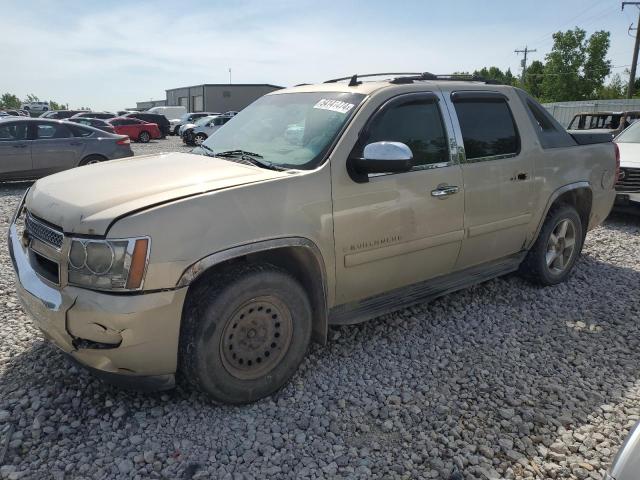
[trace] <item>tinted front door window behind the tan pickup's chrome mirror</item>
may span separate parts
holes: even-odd
[[[418,99],[391,106],[369,125],[366,143],[402,142],[413,153],[415,166],[449,161],[447,135],[434,101]]]

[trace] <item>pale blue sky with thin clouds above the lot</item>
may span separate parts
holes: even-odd
[[[613,0],[0,0],[0,94],[118,110],[201,83],[290,86],[353,73],[520,74],[551,34],[611,32],[631,64],[638,9]]]

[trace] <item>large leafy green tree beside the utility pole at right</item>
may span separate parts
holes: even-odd
[[[610,34],[593,33],[588,39],[581,28],[553,34],[553,47],[546,56],[542,81],[545,101],[595,98],[611,72],[606,59]]]

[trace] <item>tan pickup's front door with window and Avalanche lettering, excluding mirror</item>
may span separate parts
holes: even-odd
[[[464,192],[441,104],[431,92],[392,98],[373,113],[351,152],[361,156],[366,144],[402,142],[413,153],[411,171],[354,179],[344,164],[332,163],[337,305],[453,269]]]

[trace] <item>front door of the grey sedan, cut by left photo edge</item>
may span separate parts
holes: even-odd
[[[0,123],[0,178],[31,176],[31,140],[27,122]]]

